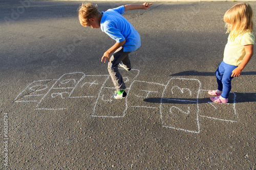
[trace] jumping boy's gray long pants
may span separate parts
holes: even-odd
[[[110,62],[108,64],[108,70],[109,70],[110,77],[111,77],[117,91],[121,91],[126,88],[125,84],[123,82],[123,78],[118,70],[118,64],[120,62],[122,62],[123,65],[125,65],[128,68],[131,68],[131,62],[129,59],[130,53],[131,52],[123,52],[123,47],[121,46],[110,57]]]

